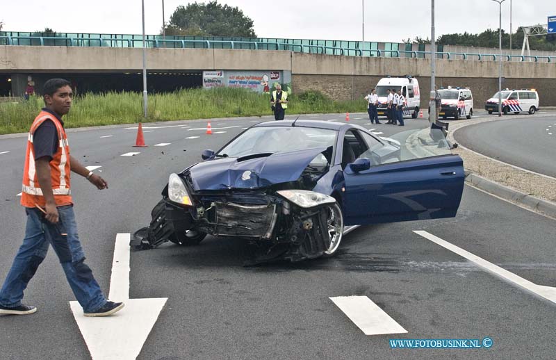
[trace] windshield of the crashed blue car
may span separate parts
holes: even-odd
[[[336,130],[301,126],[259,126],[248,129],[216,154],[239,157],[251,154],[291,152],[334,145]]]

